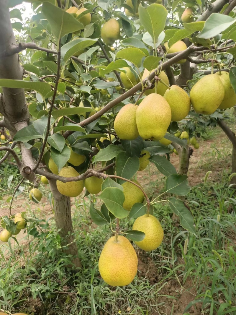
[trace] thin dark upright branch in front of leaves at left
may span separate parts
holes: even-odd
[[[58,45],[58,55],[57,55],[57,77],[56,77],[56,82],[55,82],[55,87],[54,87],[54,93],[53,93],[53,98],[52,98],[52,102],[50,105],[50,109],[48,111],[48,125],[47,125],[47,131],[46,131],[46,135],[42,144],[42,150],[41,153],[38,157],[38,161],[33,169],[33,172],[38,168],[42,157],[43,157],[43,152],[48,140],[48,135],[49,135],[49,131],[50,131],[50,122],[51,122],[51,112],[53,110],[53,105],[56,99],[56,95],[57,95],[57,87],[58,87],[58,83],[59,83],[59,79],[60,79],[60,65],[61,65],[61,40],[59,40],[59,45]]]

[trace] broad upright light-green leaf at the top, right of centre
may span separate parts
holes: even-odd
[[[146,9],[139,5],[139,20],[143,27],[157,42],[160,33],[164,30],[167,10],[161,4],[151,4]]]

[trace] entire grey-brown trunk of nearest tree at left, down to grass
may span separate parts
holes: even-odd
[[[20,66],[19,56],[17,53],[8,55],[7,52],[17,47],[14,33],[11,27],[8,1],[0,0],[0,79],[22,80],[23,68]],[[0,112],[4,116],[4,126],[9,129],[11,136],[18,130],[27,126],[29,121],[29,111],[25,100],[24,89],[3,88],[3,95],[0,95]],[[23,142],[20,142],[23,166],[33,169],[35,162],[32,158],[31,151],[26,149]],[[25,174],[22,173],[22,175]],[[31,180],[34,180],[35,174],[31,173]],[[74,243],[71,214],[70,198],[61,195],[56,186],[55,180],[50,181],[50,186],[54,198],[54,210],[56,226],[60,228],[60,236],[67,242],[65,247],[66,253],[72,255],[72,263],[76,267],[81,267],[78,257],[78,249]],[[64,242],[64,246],[65,246]]]

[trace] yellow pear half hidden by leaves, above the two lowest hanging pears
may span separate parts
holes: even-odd
[[[140,187],[142,187],[137,180],[132,180],[134,183],[138,184]],[[123,186],[123,193],[125,195],[125,201],[123,203],[123,208],[126,210],[130,210],[134,203],[136,202],[143,202],[144,195],[141,189],[139,189],[137,186],[135,186],[132,183],[129,183],[126,181]]]

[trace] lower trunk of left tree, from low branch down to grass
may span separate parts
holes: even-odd
[[[70,197],[62,195],[56,186],[56,180],[49,179],[49,185],[54,198],[54,212],[56,226],[59,230],[59,235],[62,238],[63,252],[72,255],[70,267],[81,267],[81,262],[78,256],[78,249],[74,238],[74,231],[70,213]]]

